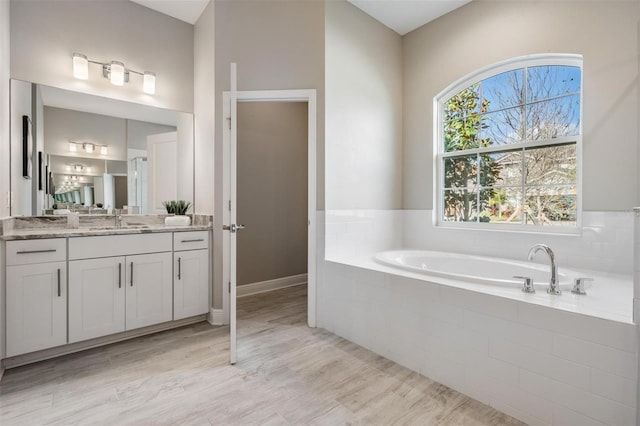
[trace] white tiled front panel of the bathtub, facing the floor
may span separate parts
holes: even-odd
[[[321,274],[319,327],[529,424],[636,424],[631,323],[330,261]]]

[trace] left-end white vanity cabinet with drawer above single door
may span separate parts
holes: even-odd
[[[67,343],[66,239],[6,244],[6,355]]]

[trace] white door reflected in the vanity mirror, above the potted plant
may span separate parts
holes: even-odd
[[[147,196],[149,213],[166,213],[163,201],[178,198],[178,133],[147,136]]]

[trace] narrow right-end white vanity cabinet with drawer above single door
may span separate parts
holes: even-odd
[[[173,319],[209,311],[209,232],[173,234]]]

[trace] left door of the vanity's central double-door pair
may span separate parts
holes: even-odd
[[[69,262],[69,343],[124,331],[125,258]]]

